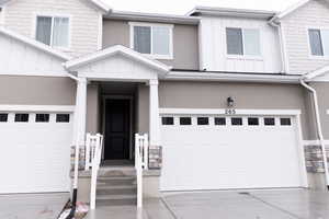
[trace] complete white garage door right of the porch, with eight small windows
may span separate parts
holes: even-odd
[[[163,115],[161,191],[302,186],[294,117]]]

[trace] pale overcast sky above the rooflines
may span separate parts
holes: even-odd
[[[282,11],[298,0],[102,0],[117,11],[183,15],[195,5]]]

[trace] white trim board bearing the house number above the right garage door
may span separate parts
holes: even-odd
[[[227,111],[235,110],[235,114]],[[239,108],[159,108],[160,114],[189,114],[189,115],[300,115],[300,110],[239,110]]]

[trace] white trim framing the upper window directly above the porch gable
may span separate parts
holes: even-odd
[[[154,59],[173,59],[173,24],[160,24],[160,23],[147,23],[147,22],[129,22],[129,32],[131,32],[131,48],[134,49],[134,27],[135,26],[148,26],[150,28],[152,27],[169,27],[169,55],[157,55],[152,54],[152,31],[150,32],[150,49],[151,54],[143,54],[147,57],[154,58]]]

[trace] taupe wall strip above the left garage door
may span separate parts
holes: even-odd
[[[0,104],[75,105],[76,82],[59,77],[0,76]]]

